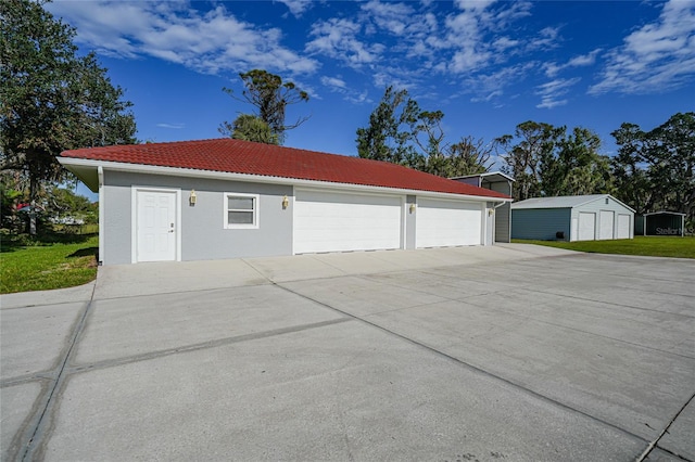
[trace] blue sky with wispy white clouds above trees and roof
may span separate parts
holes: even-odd
[[[75,1],[76,27],[125,89],[141,140],[218,138],[250,105],[238,74],[294,81],[311,115],[286,145],[356,155],[388,85],[444,112],[450,142],[525,120],[583,126],[612,154],[623,121],[654,128],[695,110],[695,1]]]

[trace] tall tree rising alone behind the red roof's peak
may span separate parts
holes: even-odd
[[[298,118],[292,125],[286,125],[287,106],[308,101],[308,93],[301,90],[291,81],[282,81],[278,75],[263,69],[253,69],[239,74],[244,89],[241,98],[237,98],[232,89],[223,88],[230,97],[244,101],[257,110],[257,116],[265,121],[279,142],[285,141],[285,132],[299,127],[308,120],[308,116]],[[225,121],[223,126],[231,124]]]

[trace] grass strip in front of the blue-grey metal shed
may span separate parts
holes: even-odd
[[[569,251],[595,254],[644,255],[649,257],[695,258],[695,238],[636,236],[616,241],[526,241],[515,239],[520,244],[547,245]]]

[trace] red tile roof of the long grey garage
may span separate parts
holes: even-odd
[[[508,197],[400,165],[229,138],[65,151],[63,157],[381,188]]]

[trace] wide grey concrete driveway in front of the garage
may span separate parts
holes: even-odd
[[[695,261],[528,245],[2,296],[2,460],[695,461]]]

